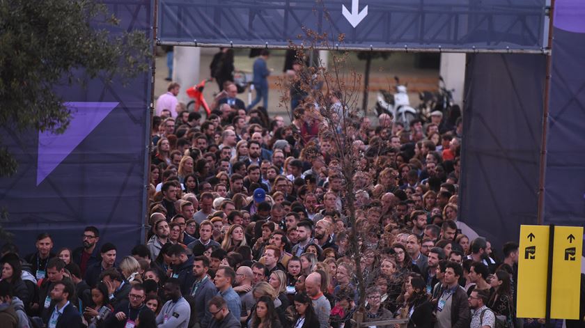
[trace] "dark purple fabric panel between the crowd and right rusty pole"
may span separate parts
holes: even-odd
[[[497,250],[536,224],[546,57],[467,58],[459,215]]]

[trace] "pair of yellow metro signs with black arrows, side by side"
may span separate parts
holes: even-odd
[[[583,228],[520,226],[518,318],[579,319]]]

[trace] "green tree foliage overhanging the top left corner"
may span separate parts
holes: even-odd
[[[147,36],[118,23],[93,0],[0,0],[0,128],[63,132],[70,113],[56,86],[83,85],[81,70],[106,82],[148,70]],[[12,175],[17,163],[1,138],[0,176]]]

